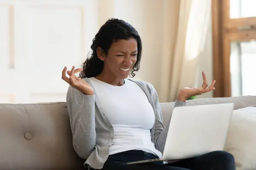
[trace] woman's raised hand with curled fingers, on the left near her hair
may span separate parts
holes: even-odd
[[[93,88],[89,83],[76,77],[76,73],[82,71],[82,68],[77,68],[75,70],[75,66],[72,67],[71,71],[67,71],[67,74],[70,76],[69,78],[66,76],[67,67],[64,67],[62,71],[62,79],[70,84],[73,88],[79,90],[82,94],[86,95],[94,95]]]

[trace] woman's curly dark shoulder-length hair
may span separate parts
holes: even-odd
[[[83,63],[83,71],[80,72],[79,77],[90,78],[101,74],[104,62],[97,56],[96,50],[98,47],[101,47],[105,54],[108,55],[108,50],[111,47],[112,42],[128,40],[131,37],[137,40],[138,48],[137,61],[130,72],[130,77],[134,77],[134,71],[138,71],[140,69],[140,59],[142,55],[142,42],[140,35],[136,29],[131,26],[131,24],[116,18],[109,19],[93,38],[93,43],[91,45],[92,54]]]

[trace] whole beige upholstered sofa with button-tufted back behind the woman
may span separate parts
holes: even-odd
[[[239,109],[256,107],[256,96],[187,102],[188,105],[232,102]],[[161,103],[164,123],[173,105]],[[0,170],[84,169],[83,162],[73,150],[66,103],[0,104]]]

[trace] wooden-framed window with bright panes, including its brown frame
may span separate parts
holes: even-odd
[[[256,95],[253,0],[212,0],[215,97]]]

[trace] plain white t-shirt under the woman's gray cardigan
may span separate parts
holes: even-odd
[[[94,77],[89,79],[103,113],[114,128],[114,140],[109,154],[143,150],[162,158],[162,153],[151,142],[154,110],[140,86],[127,79],[122,86],[110,85]]]

